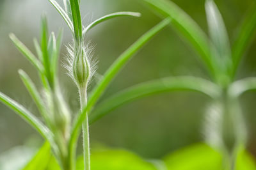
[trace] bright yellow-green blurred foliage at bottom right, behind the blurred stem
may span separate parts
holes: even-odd
[[[220,170],[222,169],[221,153],[206,144],[195,144],[164,157],[168,169],[175,170]],[[252,156],[244,150],[237,156],[236,170],[255,170],[256,164]]]

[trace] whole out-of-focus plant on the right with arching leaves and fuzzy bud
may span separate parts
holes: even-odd
[[[244,150],[247,139],[239,96],[256,89],[256,78],[248,77],[239,81],[234,81],[234,78],[237,66],[255,34],[255,5],[245,17],[239,36],[231,48],[225,24],[214,1],[207,0],[205,3],[210,38],[172,1],[144,1],[164,17],[172,19],[172,26],[191,43],[205,63],[212,82],[196,77],[171,77],[139,84],[99,104],[91,114],[91,121],[97,120],[122,104],[155,93],[182,89],[199,91],[212,98],[204,123],[205,141],[221,151],[224,169],[236,169],[237,153]]]

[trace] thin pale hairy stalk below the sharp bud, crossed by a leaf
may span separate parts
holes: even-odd
[[[81,111],[87,104],[87,88],[81,88],[79,90]],[[89,138],[89,121],[88,114],[82,126],[83,130],[83,156],[84,156],[84,170],[90,170],[90,138]]]

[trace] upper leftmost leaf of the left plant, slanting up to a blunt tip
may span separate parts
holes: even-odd
[[[17,49],[20,50],[20,52],[37,68],[37,70],[42,72],[43,66],[41,65],[40,61],[36,59],[35,55],[22,42],[20,42],[15,35],[10,34],[10,38]]]

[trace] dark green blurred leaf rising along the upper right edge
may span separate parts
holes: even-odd
[[[237,67],[239,62],[246,51],[248,49],[250,43],[252,42],[253,38],[255,37],[255,29],[256,29],[256,3],[252,5],[252,8],[247,13],[246,17],[244,18],[241,30],[237,39],[232,46],[232,58],[234,61],[234,68],[233,68],[233,77],[236,74]]]

